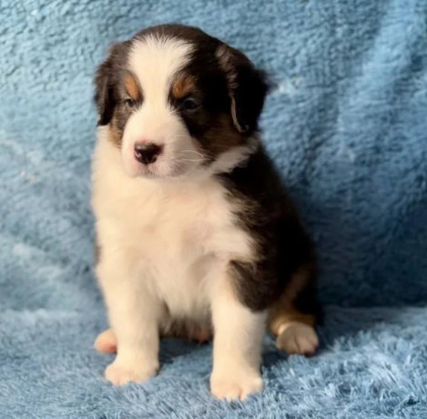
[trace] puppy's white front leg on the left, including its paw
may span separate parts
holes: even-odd
[[[158,371],[160,305],[135,263],[117,251],[104,254],[97,276],[117,336],[117,357],[107,366],[105,376],[115,385],[140,383]]]

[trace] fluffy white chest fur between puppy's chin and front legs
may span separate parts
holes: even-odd
[[[219,181],[130,179],[117,148],[101,138],[93,188],[101,259],[126,254],[128,268],[173,317],[207,319],[221,267],[250,255],[249,236],[236,226]]]

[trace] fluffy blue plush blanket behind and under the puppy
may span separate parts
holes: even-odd
[[[125,388],[91,349],[92,77],[111,41],[168,21],[269,72],[264,137],[320,251],[320,353],[267,339],[245,404],[210,398],[209,345],[164,342],[158,377]],[[2,0],[0,417],[427,417],[426,137],[425,0]]]

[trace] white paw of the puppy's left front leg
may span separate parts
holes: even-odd
[[[156,375],[158,363],[147,365],[144,363],[126,363],[116,358],[110,363],[105,372],[106,379],[114,385],[127,383],[142,383]]]

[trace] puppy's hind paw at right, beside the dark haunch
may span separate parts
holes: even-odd
[[[295,322],[280,332],[276,346],[285,353],[312,355],[319,346],[319,338],[311,326]]]

